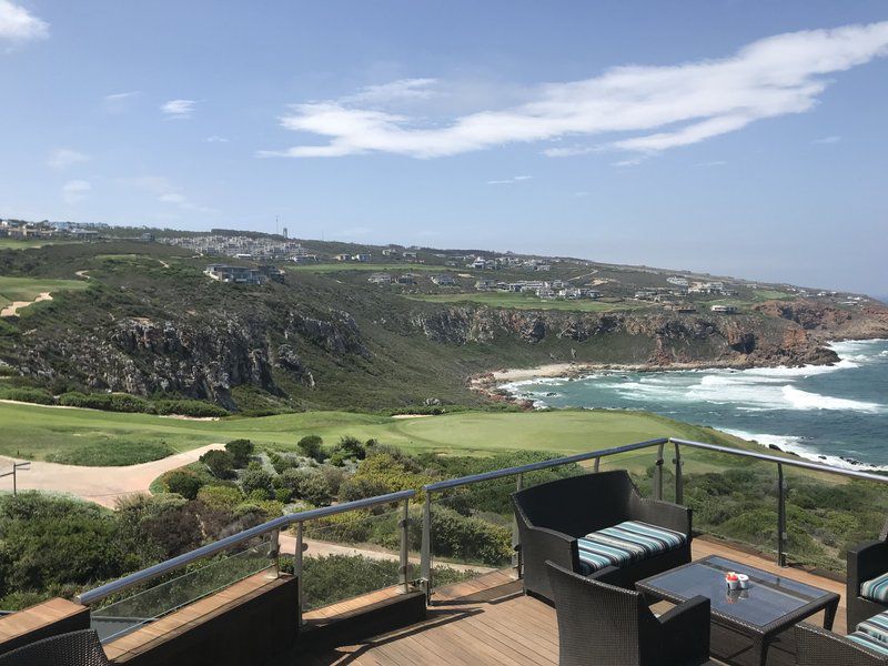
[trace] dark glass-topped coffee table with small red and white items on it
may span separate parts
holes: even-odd
[[[749,576],[747,589],[729,591],[728,572]],[[639,592],[680,604],[697,595],[709,599],[714,624],[753,639],[764,664],[768,642],[801,619],[825,610],[824,626],[833,628],[839,595],[710,555],[636,583]]]

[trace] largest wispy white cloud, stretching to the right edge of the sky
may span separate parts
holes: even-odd
[[[398,98],[418,95],[434,103],[438,84],[431,79],[400,80],[339,100],[290,107],[280,119],[283,128],[329,142],[258,155],[386,152],[438,158],[508,143],[585,138],[594,143],[544,152],[568,157],[616,149],[646,157],[736,132],[763,119],[810,111],[829,85],[828,75],[887,53],[888,21],[789,32],[719,60],[619,67],[592,79],[542,84],[527,91],[527,101],[518,105],[451,118],[408,114],[403,105],[395,109],[392,102]]]

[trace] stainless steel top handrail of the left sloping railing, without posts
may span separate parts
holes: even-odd
[[[380,504],[392,504],[394,502],[404,502],[408,501],[411,497],[416,495],[416,491],[400,491],[397,493],[389,493],[386,495],[379,495],[376,497],[366,497],[364,500],[355,500],[354,502],[346,502],[345,504],[336,504],[334,506],[324,506],[321,508],[311,508],[309,511],[302,511],[294,514],[289,514],[285,516],[281,516],[280,518],[274,518],[266,523],[262,523],[261,525],[256,525],[255,527],[251,527],[250,529],[244,529],[243,532],[239,532],[238,534],[232,534],[231,536],[226,536],[225,538],[221,538],[218,542],[213,542],[212,544],[206,544],[205,546],[201,546],[200,548],[195,548],[189,553],[184,553],[179,555],[178,557],[173,557],[165,562],[161,562],[160,564],[155,564],[154,566],[150,566],[142,571],[135,572],[130,574],[129,576],[124,576],[123,578],[119,578],[117,581],[112,581],[111,583],[105,583],[94,589],[90,589],[88,592],[83,592],[74,597],[74,602],[78,604],[82,604],[84,606],[89,606],[97,602],[102,601],[103,598],[115,594],[118,592],[122,592],[124,589],[129,589],[130,587],[134,587],[135,585],[140,585],[142,583],[147,583],[158,576],[162,576],[163,574],[176,569],[179,567],[185,566],[192,562],[196,562],[198,559],[203,559],[204,557],[209,557],[210,555],[215,555],[216,553],[221,553],[222,551],[228,551],[229,548],[236,546],[238,544],[242,544],[248,542],[252,538],[256,538],[270,532],[280,532],[281,529],[289,527],[293,524],[302,524],[306,521],[313,521],[317,518],[324,518],[326,516],[333,516],[336,514],[347,513],[351,511],[359,511],[361,508],[370,508],[371,506],[379,506]]]

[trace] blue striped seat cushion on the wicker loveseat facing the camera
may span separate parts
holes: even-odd
[[[640,521],[626,521],[577,539],[581,572],[588,575],[606,566],[623,566],[673,551],[687,535]]]

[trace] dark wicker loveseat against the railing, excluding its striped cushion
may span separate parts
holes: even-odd
[[[690,509],[646,500],[625,470],[559,478],[512,495],[521,537],[524,589],[552,599],[546,561],[581,572],[577,538],[624,521],[644,521],[687,535],[687,543],[622,566],[592,574],[613,585],[632,587],[636,581],[690,562]]]

